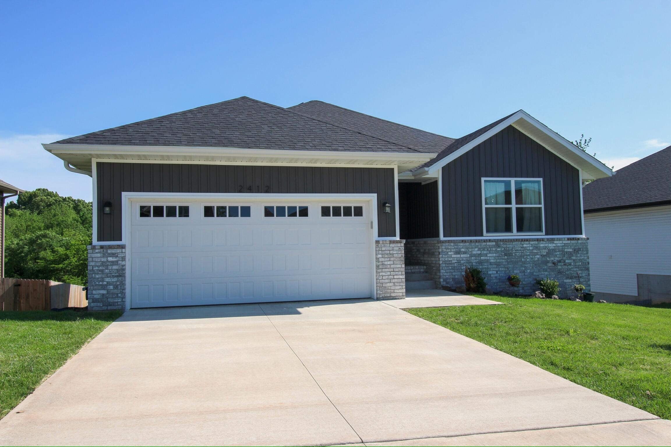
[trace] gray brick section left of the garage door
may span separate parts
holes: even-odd
[[[125,309],[125,245],[89,245],[89,310]]]

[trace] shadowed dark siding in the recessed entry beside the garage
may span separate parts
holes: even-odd
[[[401,239],[439,237],[438,182],[399,183]]]

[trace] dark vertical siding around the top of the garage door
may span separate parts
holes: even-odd
[[[121,241],[121,192],[378,194],[378,237],[396,236],[395,168],[97,162],[98,241]],[[112,213],[102,204],[112,202]]]

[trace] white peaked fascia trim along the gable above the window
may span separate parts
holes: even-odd
[[[527,124],[527,126],[524,125],[525,123]],[[454,151],[453,153],[450,153],[450,155],[440,160],[436,164],[429,166],[429,168],[421,168],[417,170],[414,173],[415,178],[425,176],[426,174],[439,170],[446,164],[452,162],[452,160],[460,157],[461,155],[464,155],[464,153],[470,151],[470,149],[473,149],[486,139],[493,137],[493,135],[496,135],[509,125],[514,125],[516,129],[518,129],[528,137],[534,139],[539,144],[543,145],[544,147],[555,153],[558,157],[564,159],[565,162],[568,162],[569,164],[574,166],[576,169],[579,170],[582,169],[583,172],[590,172],[590,174],[594,175],[594,178],[603,178],[613,175],[613,171],[610,168],[608,168],[608,166],[599,162],[598,159],[592,157],[592,155],[589,155],[585,151],[581,150],[576,145],[568,141],[566,138],[562,137],[555,131],[552,131],[552,129],[550,129],[549,127],[547,127],[546,125],[544,125],[543,123],[541,123],[540,121],[538,121],[537,119],[526,113],[525,111],[521,110],[511,115],[511,117],[509,117],[505,121],[502,121],[495,127],[492,127],[479,137],[473,139],[472,141],[470,141],[470,143],[467,143],[466,145],[460,147],[460,149]],[[528,127],[529,125],[533,126],[541,133],[544,133],[545,135],[550,137],[550,139],[556,142],[556,146],[548,147],[547,143],[542,143],[541,141],[538,141],[536,138],[533,138],[532,135],[529,135],[528,131],[525,131],[525,127]],[[564,152],[564,154],[562,154],[562,152]],[[574,158],[576,158],[576,160],[571,161],[570,159],[567,159],[566,153],[574,155]]]

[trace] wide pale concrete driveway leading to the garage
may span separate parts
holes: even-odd
[[[0,444],[668,445],[669,424],[347,300],[126,312],[0,421]]]

